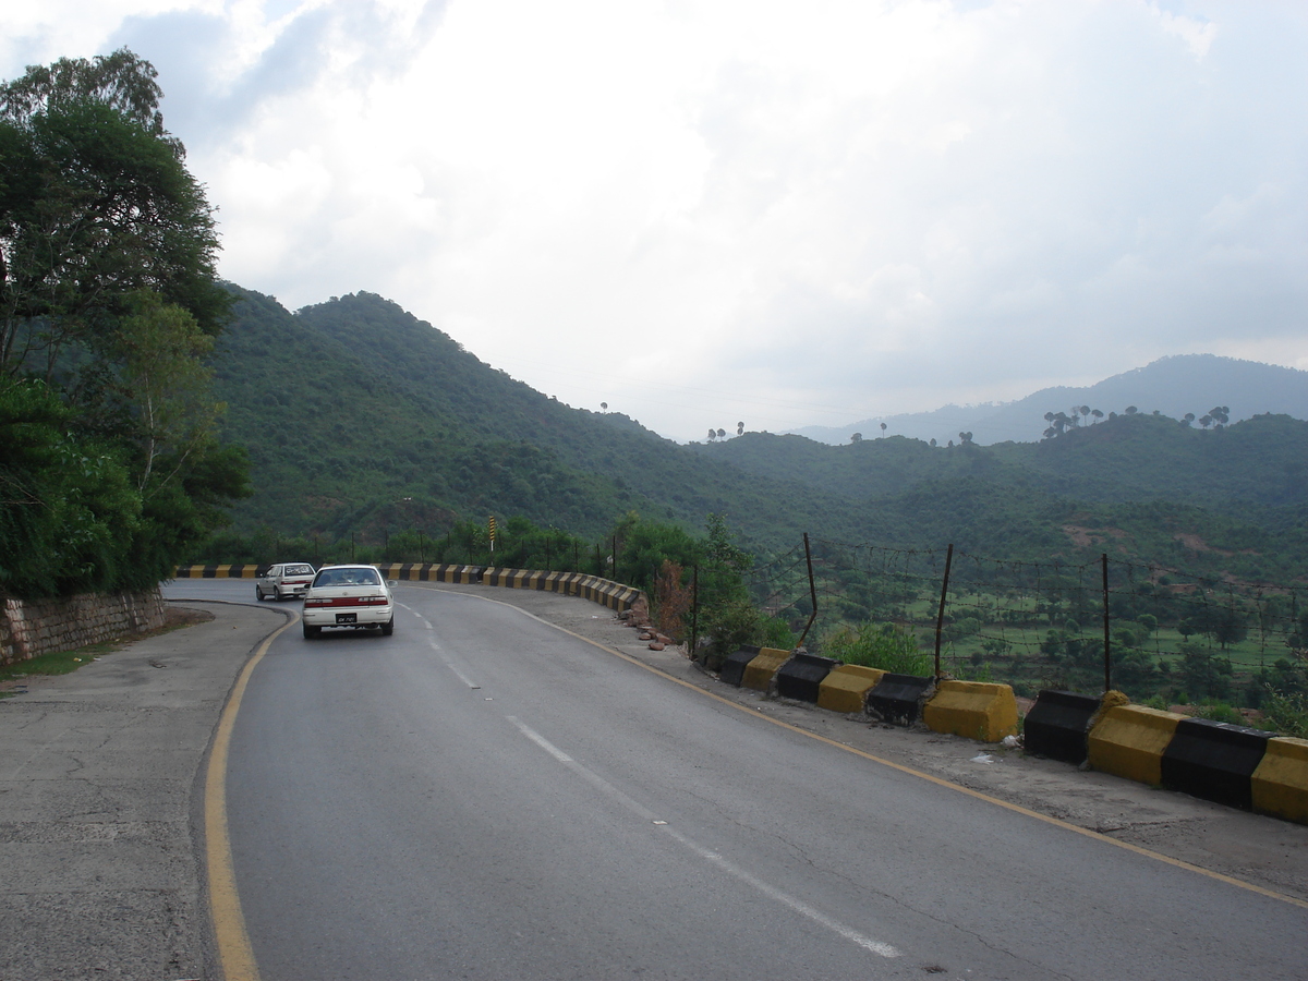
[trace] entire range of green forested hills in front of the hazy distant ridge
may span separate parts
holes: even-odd
[[[1287,416],[1199,430],[1135,413],[997,446],[766,433],[680,446],[547,398],[381,297],[296,314],[238,297],[215,360],[226,438],[249,449],[256,485],[238,531],[441,535],[496,514],[596,540],[634,510],[692,530],[723,514],[760,549],[804,531],[1014,559],[1110,542],[1274,578],[1301,574],[1308,553],[1308,422]]]

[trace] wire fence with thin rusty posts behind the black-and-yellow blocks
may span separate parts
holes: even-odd
[[[751,576],[755,600],[810,651],[893,624],[938,674],[1042,688],[1125,691],[1162,704],[1257,708],[1308,680],[1308,586],[1192,576],[1103,556],[1020,562],[812,539]],[[812,577],[808,574],[811,559]],[[816,599],[816,606],[814,603]]]

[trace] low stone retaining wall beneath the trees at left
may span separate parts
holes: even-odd
[[[0,664],[145,633],[164,625],[164,611],[157,587],[67,599],[0,599]]]

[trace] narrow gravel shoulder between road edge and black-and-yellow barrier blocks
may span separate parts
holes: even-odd
[[[1308,903],[1308,827],[1134,783],[1020,749],[840,715],[723,684],[678,647],[662,651],[595,603],[535,590],[437,586],[515,606],[749,712],[995,800]],[[869,766],[876,763],[869,760]],[[967,842],[959,842],[965,848]]]

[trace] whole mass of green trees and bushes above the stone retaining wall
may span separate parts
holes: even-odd
[[[154,69],[0,86],[0,590],[153,586],[246,490],[201,358],[230,297]],[[35,379],[41,379],[39,382]]]

